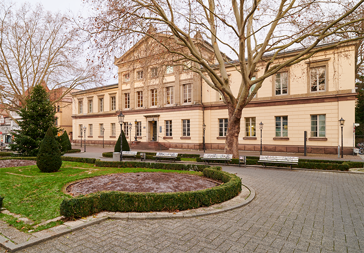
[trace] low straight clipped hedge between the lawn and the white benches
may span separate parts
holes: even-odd
[[[176,171],[199,171],[210,167],[204,164],[188,164],[188,163],[160,163],[160,162],[142,162],[142,161],[101,161],[96,160],[98,167],[121,167],[121,168],[158,168],[162,170]]]

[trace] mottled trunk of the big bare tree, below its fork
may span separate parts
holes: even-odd
[[[228,106],[229,123],[225,139],[225,154],[233,154],[233,158],[239,158],[239,134],[242,110],[236,110],[234,105]]]

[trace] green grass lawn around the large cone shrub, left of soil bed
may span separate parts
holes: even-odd
[[[34,221],[33,225],[60,216],[60,204],[70,198],[62,188],[70,182],[113,173],[164,172],[202,175],[193,171],[156,170],[152,168],[106,168],[94,164],[63,161],[55,173],[42,173],[36,165],[0,168],[0,195],[4,196],[3,207]],[[13,174],[18,175],[13,175]],[[23,175],[23,176],[20,176]],[[25,177],[28,176],[28,177]],[[0,215],[9,224],[14,219]],[[19,224],[19,226],[22,226]]]

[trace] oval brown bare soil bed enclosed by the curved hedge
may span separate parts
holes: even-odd
[[[220,183],[188,174],[140,172],[85,179],[69,185],[66,191],[73,196],[99,191],[180,192],[197,191],[217,185]]]

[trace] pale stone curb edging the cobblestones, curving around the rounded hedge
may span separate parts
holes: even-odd
[[[244,205],[249,204],[255,197],[255,191],[253,188],[251,188],[250,186],[247,185],[243,185],[246,188],[249,189],[250,191],[250,195],[247,199],[245,199],[243,202],[235,204],[235,205],[231,205],[231,206],[227,206],[227,207],[223,207],[221,209],[218,210],[212,210],[212,211],[206,211],[203,213],[199,213],[199,214],[187,214],[187,215],[183,215],[183,214],[175,214],[175,215],[153,215],[153,216],[138,216],[138,215],[110,215],[110,216],[104,216],[104,217],[100,217],[97,218],[93,221],[87,221],[84,222],[83,224],[79,224],[79,225],[75,225],[73,227],[70,228],[65,228],[62,229],[60,231],[57,232],[50,232],[48,235],[44,235],[42,237],[36,238],[36,239],[32,239],[20,244],[15,244],[13,242],[11,242],[9,239],[0,236],[0,245],[3,246],[5,249],[8,249],[10,252],[16,252],[18,250],[36,245],[40,242],[43,241],[47,241],[59,236],[62,236],[64,234],[68,234],[70,232],[88,227],[88,226],[92,226],[94,224],[98,224],[100,222],[106,221],[108,219],[112,219],[112,220],[163,220],[163,219],[181,219],[181,218],[196,218],[196,217],[203,217],[203,216],[208,216],[208,215],[216,215],[216,214],[221,214],[224,212],[228,212],[230,210],[234,210],[236,208],[242,207]]]

